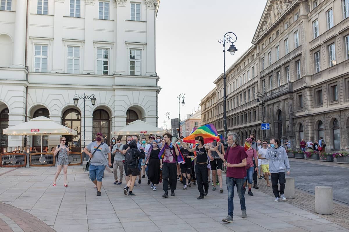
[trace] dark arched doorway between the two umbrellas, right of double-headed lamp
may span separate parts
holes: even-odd
[[[102,109],[95,110],[93,112],[93,126],[92,126],[92,140],[96,140],[97,133],[103,134],[103,141],[106,144],[109,144],[109,134],[110,134],[110,128],[109,128],[109,114]]]

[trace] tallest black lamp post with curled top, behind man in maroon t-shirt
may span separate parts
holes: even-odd
[[[230,37],[229,34],[233,34],[235,36],[235,40],[233,40],[233,38]],[[226,80],[226,76],[225,76],[225,43],[231,43],[228,51],[230,52],[231,55],[234,55],[235,52],[238,50],[236,49],[235,45],[233,43],[235,43],[237,40],[236,34],[233,32],[227,32],[225,33],[225,35],[223,36],[223,40],[218,40],[218,42],[223,43],[223,69],[224,69],[224,74],[223,74],[223,124],[224,124],[224,138],[225,141],[227,141],[227,135],[228,135],[228,129],[227,129],[227,103],[226,103],[226,99],[227,99],[227,95],[225,94],[225,80]],[[227,142],[224,142],[224,149],[228,148],[228,144]]]

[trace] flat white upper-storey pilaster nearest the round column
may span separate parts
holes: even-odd
[[[64,0],[54,1],[54,18],[53,18],[53,43],[52,52],[54,54],[52,59],[51,72],[63,73],[63,57],[65,48],[62,46],[63,36],[63,13],[65,12]]]

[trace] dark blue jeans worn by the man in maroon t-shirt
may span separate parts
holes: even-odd
[[[253,172],[252,172],[253,173]],[[227,188],[228,188],[228,214],[233,217],[234,211],[234,187],[236,185],[236,190],[238,192],[238,196],[240,198],[240,207],[241,210],[246,209],[245,205],[245,197],[242,190],[242,186],[244,184],[244,178],[238,179],[233,177],[227,177]]]

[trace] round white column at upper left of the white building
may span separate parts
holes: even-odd
[[[27,1],[17,2],[15,16],[15,33],[13,39],[13,68],[24,68],[25,59],[25,27],[27,20]]]

